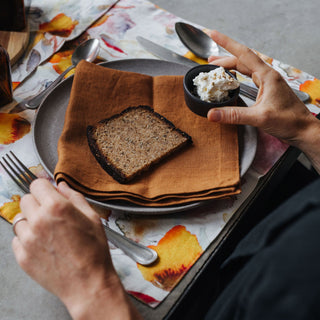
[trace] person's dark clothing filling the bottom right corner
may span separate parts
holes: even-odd
[[[221,267],[206,319],[320,319],[320,179],[257,225]]]

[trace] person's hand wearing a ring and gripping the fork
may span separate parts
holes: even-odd
[[[56,190],[44,179],[35,180],[30,191],[20,203],[19,216],[26,220],[16,224],[12,241],[22,269],[57,295],[73,318],[102,319],[108,307],[114,319],[135,314],[99,216],[84,197],[64,182]]]

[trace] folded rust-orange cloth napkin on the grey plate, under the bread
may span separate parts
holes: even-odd
[[[237,128],[210,123],[184,102],[182,76],[151,77],[85,61],[73,80],[58,143],[57,182],[98,201],[126,200],[143,206],[169,206],[240,192]],[[91,154],[86,128],[129,106],[149,105],[187,132],[193,145],[129,184],[109,176]]]

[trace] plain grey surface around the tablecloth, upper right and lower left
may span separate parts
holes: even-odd
[[[320,77],[316,0],[155,0],[153,3]],[[59,300],[18,267],[11,251],[12,229],[2,219],[0,235],[1,320],[70,319]]]

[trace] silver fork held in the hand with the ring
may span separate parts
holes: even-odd
[[[33,174],[12,151],[10,151],[10,154],[7,153],[2,157],[0,164],[23,192],[30,192],[30,184],[33,180],[37,179],[37,176]],[[158,255],[156,251],[112,230],[104,218],[100,217],[100,220],[108,240],[135,262],[142,265],[149,265],[157,260]]]

